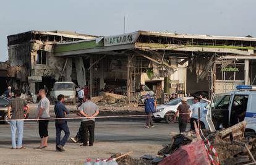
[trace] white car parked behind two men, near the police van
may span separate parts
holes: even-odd
[[[172,123],[174,120],[174,114],[177,112],[177,107],[179,106],[179,104],[181,104],[181,99],[182,98],[175,98],[163,105],[157,106],[156,112],[153,114],[153,121],[155,122],[166,121],[167,123]],[[187,97],[186,99],[187,99],[187,104],[189,104],[190,106],[194,103],[193,97]],[[206,102],[210,103],[208,99],[200,100],[200,103],[206,103]],[[203,109],[203,115],[207,114],[207,108],[208,106],[206,106],[206,108]],[[204,127],[204,125],[202,125],[202,127]]]

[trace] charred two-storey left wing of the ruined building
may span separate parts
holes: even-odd
[[[65,80],[66,59],[53,55],[53,44],[87,40],[95,36],[63,31],[30,31],[7,36],[11,79],[8,84],[36,93],[43,85]]]

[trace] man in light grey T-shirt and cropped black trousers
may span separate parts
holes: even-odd
[[[36,149],[43,149],[48,146],[48,124],[49,124],[49,99],[46,98],[46,93],[44,89],[39,91],[39,96],[41,96],[41,100],[38,103],[37,111],[38,114],[36,119],[38,120],[38,130],[41,138],[41,144]]]

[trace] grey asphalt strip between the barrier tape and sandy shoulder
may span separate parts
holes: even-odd
[[[152,141],[168,142],[170,132],[179,132],[177,124],[155,123],[155,127],[145,129],[143,117],[123,119],[96,119],[95,138],[98,142],[114,141]],[[74,136],[79,129],[80,119],[68,122],[70,136]],[[54,121],[49,122],[49,142],[54,142],[55,126]],[[9,125],[0,125],[0,145],[10,143]],[[23,142],[38,142],[38,124],[34,121],[25,122]],[[11,143],[10,143],[11,144]]]

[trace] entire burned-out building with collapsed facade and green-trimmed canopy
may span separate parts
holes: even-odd
[[[184,96],[255,85],[256,38],[138,31],[113,36],[32,31],[8,36],[15,84],[32,93],[55,81],[127,95]],[[20,76],[22,75],[22,76]]]

